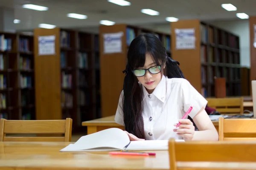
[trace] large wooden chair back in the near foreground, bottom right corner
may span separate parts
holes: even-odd
[[[207,164],[209,169],[218,170],[218,168],[210,167],[210,165],[213,165],[213,163],[220,163],[220,162],[227,163],[227,162],[255,162],[255,161],[256,161],[256,142],[255,141],[175,142],[175,139],[169,140],[170,170],[185,170],[185,169],[206,170],[207,168],[204,167],[205,165],[204,162],[206,164],[207,162],[209,163]],[[186,162],[188,162],[187,167],[184,167],[186,165]],[[195,164],[196,162],[198,163]],[[182,163],[183,163],[183,167],[181,166]]]

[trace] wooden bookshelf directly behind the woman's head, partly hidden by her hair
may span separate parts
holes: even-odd
[[[118,100],[123,88],[123,80],[127,61],[127,52],[131,41],[140,34],[155,34],[166,47],[167,54],[171,56],[170,35],[157,31],[148,30],[126,24],[117,24],[113,26],[100,26],[100,86],[101,86],[101,105],[102,117],[111,116],[116,113]],[[122,32],[122,52],[105,54],[104,52],[104,34]]]

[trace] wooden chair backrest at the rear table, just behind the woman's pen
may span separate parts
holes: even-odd
[[[244,98],[207,98],[207,105],[220,113],[243,113]]]

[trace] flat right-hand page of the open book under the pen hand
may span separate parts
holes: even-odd
[[[184,142],[184,140],[175,140]],[[168,150],[169,140],[131,141],[125,150]]]

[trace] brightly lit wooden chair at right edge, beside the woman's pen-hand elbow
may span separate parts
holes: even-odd
[[[256,119],[219,118],[219,141],[256,140]]]

